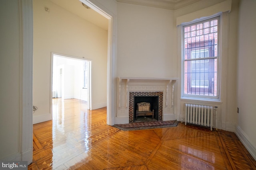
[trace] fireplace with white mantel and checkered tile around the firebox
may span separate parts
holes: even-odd
[[[146,97],[158,98],[157,106],[152,104],[154,119],[160,121],[175,120],[174,113],[174,84],[178,78],[118,78],[117,114],[115,124],[132,123],[135,120],[135,98],[143,97],[140,102],[146,102]],[[150,101],[150,100],[149,100]],[[154,103],[154,102],[153,102]]]

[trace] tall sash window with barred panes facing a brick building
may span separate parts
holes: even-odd
[[[182,96],[218,98],[220,17],[182,26]]]

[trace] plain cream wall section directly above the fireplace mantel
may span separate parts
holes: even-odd
[[[176,77],[171,10],[118,3],[117,76]]]

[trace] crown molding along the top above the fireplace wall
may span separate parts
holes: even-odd
[[[164,8],[167,10],[178,10],[200,0],[116,0],[128,4]]]

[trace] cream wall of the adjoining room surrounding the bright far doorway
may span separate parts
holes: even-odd
[[[50,12],[45,11],[47,7]],[[33,123],[51,119],[51,52],[92,61],[92,109],[106,106],[108,32],[53,4],[33,1]]]

